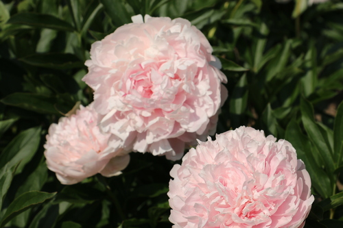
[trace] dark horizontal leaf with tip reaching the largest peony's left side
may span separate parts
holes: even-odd
[[[80,68],[84,66],[75,55],[70,53],[42,53],[29,55],[19,59],[32,66],[40,66],[54,69]]]

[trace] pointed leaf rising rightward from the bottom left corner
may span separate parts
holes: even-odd
[[[0,220],[0,227],[4,227],[12,218],[22,212],[25,212],[25,210],[43,203],[47,199],[51,199],[55,194],[56,192],[48,193],[38,191],[25,192],[24,194],[21,194],[21,196],[14,199],[14,201],[8,206],[3,218]]]

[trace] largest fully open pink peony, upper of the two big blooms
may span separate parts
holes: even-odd
[[[182,18],[133,16],[91,47],[84,81],[115,148],[182,157],[215,130],[226,81],[204,34]]]

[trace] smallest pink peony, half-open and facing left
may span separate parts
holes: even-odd
[[[78,183],[101,173],[106,177],[121,174],[130,156],[121,149],[108,147],[110,134],[97,127],[98,114],[93,103],[70,117],[62,117],[49,127],[44,155],[47,167],[63,184]]]

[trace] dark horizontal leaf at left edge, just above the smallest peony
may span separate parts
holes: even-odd
[[[5,105],[21,107],[42,114],[58,114],[54,106],[57,103],[55,97],[47,97],[43,94],[16,92],[1,100]]]

